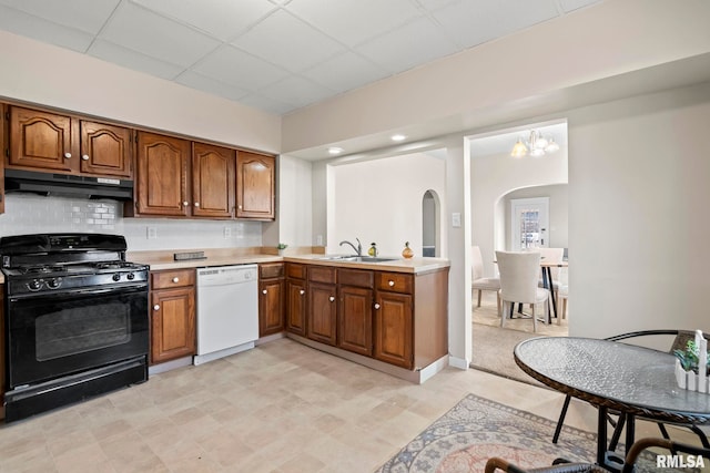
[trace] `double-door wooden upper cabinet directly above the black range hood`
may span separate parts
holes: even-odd
[[[132,177],[130,128],[20,106],[10,106],[9,115],[9,167]]]

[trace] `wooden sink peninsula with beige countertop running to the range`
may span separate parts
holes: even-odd
[[[170,251],[134,251],[129,258],[149,265],[152,274],[257,264],[257,345],[285,336],[417,383],[448,364],[446,259],[348,261],[244,249],[207,249],[195,260],[176,261]],[[194,302],[185,307],[194,313]],[[194,333],[183,337],[190,341]],[[181,357],[190,354],[181,350]]]

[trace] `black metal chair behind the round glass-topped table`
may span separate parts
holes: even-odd
[[[641,337],[658,338],[660,336],[666,336],[666,338],[668,338],[669,336],[673,337],[670,348],[668,349],[668,352],[672,353],[673,350],[686,348],[688,340],[693,340],[696,338],[696,332],[693,330],[674,330],[674,329],[639,330],[639,331],[620,333],[612,337],[608,337],[605,340],[621,341],[621,340],[628,340],[632,338],[638,339]],[[703,336],[706,339],[710,340],[709,333],[703,333]],[[557,420],[557,426],[555,428],[555,433],[552,434],[552,443],[557,443],[557,440],[559,439],[559,434],[565,423],[565,417],[567,415],[567,409],[569,408],[570,400],[571,400],[571,397],[567,394],[565,397],[565,402],[562,403],[562,410],[559,413],[559,419]],[[626,419],[623,415],[619,415],[617,420],[613,420],[611,417],[607,415],[607,420],[613,426],[613,434],[611,435],[610,445],[616,445],[616,443],[618,442],[621,435],[621,430],[623,429]],[[661,432],[661,435],[663,435],[663,439],[670,440],[670,435],[668,433],[668,430],[666,429],[666,425],[662,422],[656,422],[656,423],[658,425],[658,429]],[[700,428],[698,428],[697,425],[682,425],[682,426],[690,429],[696,435],[698,435],[702,445],[706,449],[710,449],[710,442],[708,441],[708,436]]]

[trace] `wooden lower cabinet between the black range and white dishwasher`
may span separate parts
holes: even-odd
[[[195,354],[195,271],[151,273],[151,364]]]

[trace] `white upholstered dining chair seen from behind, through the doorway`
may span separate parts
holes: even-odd
[[[537,331],[535,307],[542,304],[545,308],[542,313],[547,313],[550,297],[547,289],[537,285],[540,254],[537,251],[496,251],[496,261],[498,261],[498,271],[500,273],[500,300],[503,302],[500,327],[504,326],[508,315],[506,307],[509,307],[510,316],[513,316],[516,304],[529,304],[532,311],[532,331]]]

